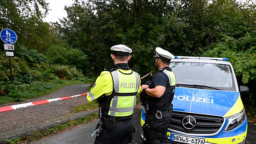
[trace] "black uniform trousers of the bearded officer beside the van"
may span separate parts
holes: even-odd
[[[146,116],[145,123],[148,124],[152,121],[152,123],[160,128],[162,132],[159,139],[147,139],[146,137],[146,144],[167,144],[167,129],[172,119],[171,116],[172,112],[163,114],[161,119],[157,119],[156,116],[153,115],[150,117]]]

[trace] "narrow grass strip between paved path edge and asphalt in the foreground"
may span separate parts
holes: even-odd
[[[46,130],[35,132],[35,133],[32,133],[32,134],[24,136],[24,137],[15,138],[13,140],[6,140],[5,143],[6,144],[22,144],[22,143],[27,143],[27,141],[39,140],[41,138],[44,138],[45,136],[53,135],[53,134],[56,134],[56,133],[64,131],[64,130],[71,129],[75,126],[79,126],[81,124],[88,123],[97,118],[98,118],[98,113],[93,113],[92,115],[84,116],[77,120],[72,120],[65,124],[55,126],[53,128],[48,128]]]

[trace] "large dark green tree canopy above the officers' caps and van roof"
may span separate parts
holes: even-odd
[[[255,9],[240,5],[247,12]],[[155,70],[155,47],[174,55],[198,56],[226,36],[239,39],[255,30],[254,22],[232,0],[77,0],[65,10],[68,16],[55,23],[56,33],[73,48],[89,53],[90,63],[85,63],[89,75],[113,65],[109,49],[115,44],[131,47],[130,67],[145,74]]]

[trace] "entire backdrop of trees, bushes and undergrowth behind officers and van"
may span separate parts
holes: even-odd
[[[256,5],[251,0],[74,0],[65,7],[67,17],[54,23],[43,22],[46,0],[7,0],[0,8],[0,29],[18,35],[13,84],[0,49],[0,103],[22,101],[63,81],[90,83],[104,66],[113,65],[110,47],[125,44],[133,49],[129,66],[141,75],[156,72],[155,47],[174,55],[228,58],[239,85],[250,88],[242,97],[247,115],[256,117]]]

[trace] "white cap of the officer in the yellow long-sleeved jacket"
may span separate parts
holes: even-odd
[[[110,48],[110,50],[112,51],[112,54],[119,56],[128,56],[132,52],[132,49],[122,44],[114,45]]]

